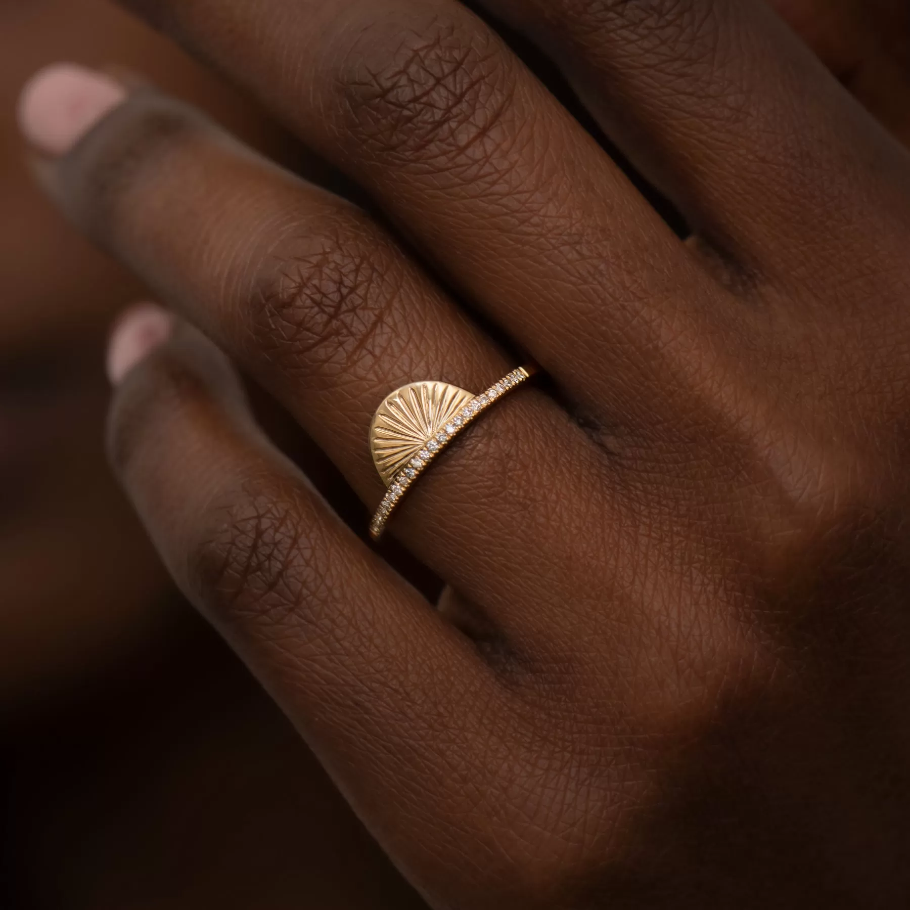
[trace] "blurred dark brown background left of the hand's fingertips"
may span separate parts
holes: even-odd
[[[236,92],[113,5],[0,5],[0,705],[13,835],[0,906],[419,905],[177,600],[111,479],[103,351],[143,289],[28,173],[15,98],[58,58],[124,66],[319,174]]]

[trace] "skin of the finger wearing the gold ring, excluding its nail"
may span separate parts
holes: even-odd
[[[362,213],[165,98],[122,99],[52,176],[74,216],[275,395],[371,509],[385,491],[369,452],[379,402],[421,379],[480,391],[514,366]],[[420,479],[391,527],[518,650],[547,649],[550,633],[530,632],[518,605],[530,568],[592,520],[602,470],[551,399],[515,392]],[[533,602],[563,602],[562,581]]]

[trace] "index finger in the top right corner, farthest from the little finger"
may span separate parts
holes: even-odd
[[[610,136],[743,270],[803,275],[807,244],[824,258],[820,232],[849,246],[866,229],[835,194],[905,184],[903,150],[760,0],[486,5],[561,62]]]

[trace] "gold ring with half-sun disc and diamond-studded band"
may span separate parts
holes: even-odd
[[[412,382],[379,405],[369,428],[369,450],[389,489],[369,526],[374,541],[386,530],[405,493],[450,442],[536,371],[531,366],[513,369],[480,395],[446,382]]]

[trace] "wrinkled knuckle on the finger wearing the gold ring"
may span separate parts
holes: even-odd
[[[344,371],[380,359],[396,338],[404,278],[394,253],[375,244],[368,253],[351,234],[331,225],[318,237],[292,232],[273,254],[278,264],[258,270],[249,340],[282,372]]]

